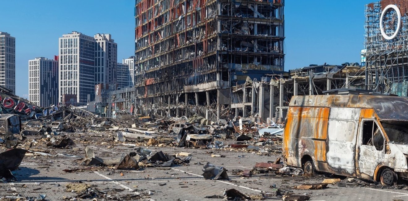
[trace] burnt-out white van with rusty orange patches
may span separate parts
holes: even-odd
[[[408,179],[408,99],[376,95],[293,96],[284,163],[393,185]]]

